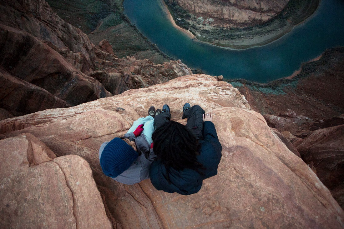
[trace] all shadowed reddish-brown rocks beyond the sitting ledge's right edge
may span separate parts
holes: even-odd
[[[343,208],[344,114],[313,121],[289,109],[278,116],[265,114],[263,117],[288,149],[318,175]]]

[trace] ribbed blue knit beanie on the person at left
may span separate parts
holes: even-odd
[[[126,171],[137,157],[138,153],[128,143],[114,138],[101,153],[100,166],[105,175],[115,178]]]

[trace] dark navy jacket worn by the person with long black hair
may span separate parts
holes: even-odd
[[[166,168],[157,160],[151,164],[149,172],[151,182],[157,190],[164,190],[168,193],[176,192],[182,195],[194,194],[201,189],[204,179],[217,174],[217,166],[222,156],[222,146],[218,141],[214,123],[203,122],[203,138],[200,141],[201,150],[197,156],[197,161],[204,166],[204,175],[192,169],[176,171],[170,168],[171,183],[169,184],[166,178]]]

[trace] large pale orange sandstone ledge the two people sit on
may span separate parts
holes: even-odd
[[[218,174],[206,179],[200,192],[169,194],[157,191],[149,180],[123,185],[102,173],[98,150],[104,141],[125,133],[133,121],[147,116],[151,105],[169,104],[172,119],[185,124],[186,120],[180,120],[185,102],[214,114],[223,146]],[[179,77],[71,108],[3,120],[0,125],[5,132],[2,138],[29,132],[59,156],[76,154],[86,159],[114,226],[344,226],[343,210],[319,178],[251,110],[236,88],[212,76]]]

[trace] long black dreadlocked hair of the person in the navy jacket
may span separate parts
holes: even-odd
[[[170,183],[170,168],[177,171],[190,168],[204,174],[204,167],[197,162],[201,145],[196,137],[182,124],[169,121],[157,128],[152,134],[153,150],[157,159],[165,165],[167,179]]]

